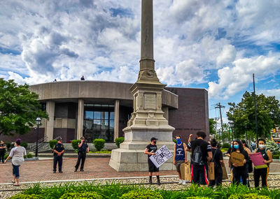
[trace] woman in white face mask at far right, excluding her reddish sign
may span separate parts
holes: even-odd
[[[267,168],[260,168],[255,169],[253,171],[253,177],[255,181],[255,188],[257,188],[260,185],[260,177],[262,177],[262,187],[267,185],[267,175],[269,172],[269,163],[272,163],[272,153],[265,147],[265,140],[260,138],[258,139],[258,148],[255,149],[255,153],[262,154],[262,157],[264,159],[264,163],[267,164]]]

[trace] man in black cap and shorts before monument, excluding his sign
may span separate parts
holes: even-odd
[[[160,169],[157,168],[153,162],[151,161],[150,157],[155,155],[155,152],[158,150],[157,145],[155,145],[157,143],[157,138],[151,138],[151,144],[148,145],[145,149],[144,154],[148,155],[148,170],[149,170],[149,184],[152,184],[152,177],[153,177],[153,172],[155,172],[155,175],[157,176],[158,182],[157,184],[160,185]]]

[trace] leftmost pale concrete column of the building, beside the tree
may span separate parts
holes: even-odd
[[[47,101],[46,111],[48,112],[49,120],[45,120],[45,136],[48,136],[48,141],[53,140],[53,126],[55,124],[55,102]],[[41,138],[39,138],[41,139]]]

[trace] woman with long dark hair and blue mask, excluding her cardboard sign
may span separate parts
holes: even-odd
[[[246,163],[248,163],[249,161],[249,156],[248,153],[245,151],[242,142],[240,140],[235,140],[233,142],[232,152],[237,152],[244,155],[243,166],[238,166],[237,163],[232,164],[232,174],[233,174],[232,182],[240,184],[240,179],[242,179],[242,184],[246,185],[246,178],[248,174],[248,168],[246,166]]]

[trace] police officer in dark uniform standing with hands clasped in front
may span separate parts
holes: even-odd
[[[57,139],[55,147],[53,147],[53,172],[57,172],[57,162],[58,162],[58,172],[62,172],[62,156],[64,153],[64,145],[62,145],[62,138]]]

